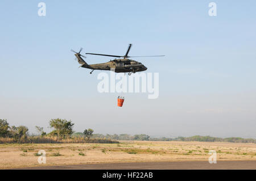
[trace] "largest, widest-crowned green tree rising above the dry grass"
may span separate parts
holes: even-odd
[[[64,134],[72,134],[73,133],[73,125],[74,123],[71,122],[71,120],[67,121],[65,119],[51,119],[49,121],[49,125],[51,128],[54,128],[55,130],[53,133],[57,133],[58,140],[60,136],[63,136]]]

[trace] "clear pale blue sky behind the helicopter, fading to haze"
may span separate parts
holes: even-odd
[[[209,2],[1,1],[1,118],[30,132],[61,117],[76,131],[256,138],[256,2],[213,1],[217,16]],[[129,43],[131,56],[166,56],[134,58],[159,73],[159,98],[127,94],[120,109],[70,49],[123,55]]]

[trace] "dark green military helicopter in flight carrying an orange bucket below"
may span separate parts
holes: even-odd
[[[75,56],[77,58],[77,61],[79,64],[81,64],[80,67],[86,68],[86,69],[92,69],[90,71],[90,74],[94,70],[114,70],[117,73],[126,73],[128,72],[129,75],[131,73],[136,73],[137,71],[144,71],[147,70],[146,66],[144,66],[141,62],[131,60],[129,59],[130,56],[128,56],[128,53],[130,51],[131,44],[129,44],[129,47],[127,49],[127,52],[125,56],[116,56],[116,55],[111,55],[111,54],[98,54],[98,53],[85,53],[85,54],[94,54],[94,55],[99,55],[99,56],[108,56],[108,57],[118,57],[117,59],[110,60],[109,62],[105,62],[102,64],[91,64],[88,65],[82,57],[86,58],[82,54],[80,54],[82,48],[79,50],[79,52],[75,52],[74,50],[71,50],[72,52],[75,52]],[[164,55],[160,56],[133,56],[133,57],[162,57]]]

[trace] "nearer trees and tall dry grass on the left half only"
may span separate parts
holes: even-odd
[[[118,143],[106,138],[91,138],[93,129],[85,129],[84,132],[77,136],[73,131],[71,120],[51,119],[49,127],[53,128],[52,132],[46,133],[43,127],[36,126],[37,135],[29,135],[28,128],[20,125],[19,127],[11,126],[6,119],[0,119],[0,144],[3,143]]]

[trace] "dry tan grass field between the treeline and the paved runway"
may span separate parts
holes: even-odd
[[[46,164],[38,163],[39,150]],[[208,162],[209,150],[217,161],[256,161],[256,144],[179,141],[121,141],[120,144],[2,144],[0,169],[118,162]]]

